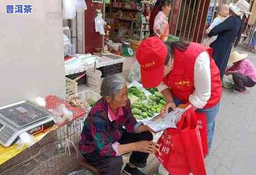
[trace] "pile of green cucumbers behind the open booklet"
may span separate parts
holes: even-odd
[[[155,114],[160,113],[166,104],[165,98],[160,92],[157,92],[157,89],[148,90],[152,94],[149,97],[139,88],[129,88],[128,98],[131,100],[132,114],[134,114],[136,119],[151,118]]]

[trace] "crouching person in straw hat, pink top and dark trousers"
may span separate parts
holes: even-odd
[[[247,56],[234,51],[229,57],[229,62],[233,63],[233,66],[227,69],[226,75],[232,75],[236,93],[246,93],[246,87],[253,87],[256,84],[256,68],[246,59]]]

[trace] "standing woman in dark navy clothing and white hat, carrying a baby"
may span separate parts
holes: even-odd
[[[208,34],[209,37],[218,35],[210,47],[213,49],[213,59],[221,72],[221,79],[223,79],[227,68],[232,45],[235,41],[234,46],[237,46],[242,34],[245,19],[249,14],[249,3],[245,0],[239,0],[235,4],[229,4],[229,9],[231,11],[230,17],[214,27]]]

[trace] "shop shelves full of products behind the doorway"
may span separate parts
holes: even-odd
[[[106,6],[106,21],[112,26],[111,40],[143,40],[149,37],[151,1],[111,1]],[[122,37],[121,37],[122,36]]]

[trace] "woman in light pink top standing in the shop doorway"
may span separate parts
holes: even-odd
[[[168,16],[171,11],[170,0],[163,0],[160,5],[160,12],[156,15],[153,30],[155,34],[162,40],[167,41],[169,33]]]

